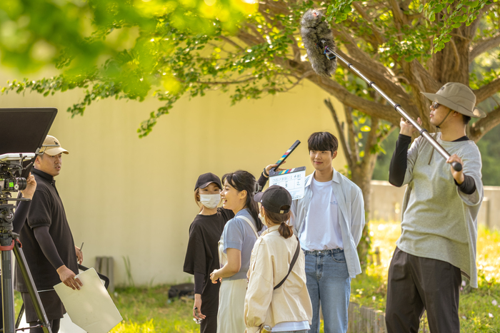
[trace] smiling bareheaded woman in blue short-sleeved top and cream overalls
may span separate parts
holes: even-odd
[[[232,210],[235,216],[226,223],[219,242],[221,268],[210,275],[213,283],[221,280],[217,333],[243,333],[246,271],[249,270],[251,250],[264,226],[259,219],[258,205],[253,200],[256,192],[254,176],[238,170],[227,173],[222,180],[223,207]]]

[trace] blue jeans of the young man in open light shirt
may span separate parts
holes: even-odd
[[[306,251],[307,291],[311,297],[313,319],[309,333],[319,332],[319,302],[324,333],[346,333],[351,294],[344,250]]]

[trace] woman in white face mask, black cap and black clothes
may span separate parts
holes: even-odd
[[[216,333],[219,284],[210,283],[210,273],[219,268],[217,242],[226,222],[234,217],[231,210],[217,208],[221,202],[221,180],[213,173],[200,175],[194,185],[194,200],[200,212],[189,227],[189,242],[184,272],[194,275],[193,317],[200,322],[201,333]]]

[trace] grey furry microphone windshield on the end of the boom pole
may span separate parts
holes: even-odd
[[[326,23],[323,13],[318,9],[309,9],[302,16],[300,33],[312,68],[319,76],[329,78],[337,68],[334,36]]]

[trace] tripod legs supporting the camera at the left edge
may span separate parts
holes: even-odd
[[[19,242],[18,239],[19,235],[13,232],[14,227],[12,222],[14,221],[14,205],[4,203],[4,200],[0,200],[1,294],[3,303],[2,314],[4,319],[4,329],[0,329],[0,332],[14,333],[17,330],[14,319],[14,280],[12,272],[12,251],[14,251],[17,265],[19,265],[21,275],[26,283],[31,302],[33,302],[35,308],[36,316],[39,318],[39,324],[36,327],[41,327],[44,333],[52,333],[49,319],[47,319],[45,309],[41,305],[41,300],[36,290],[33,277],[26,264],[26,257],[24,257],[23,250],[21,249],[21,242]]]

